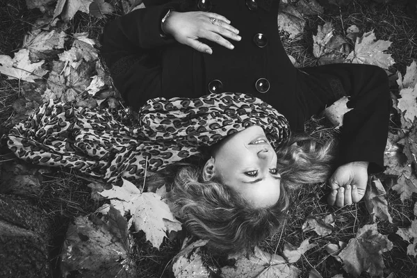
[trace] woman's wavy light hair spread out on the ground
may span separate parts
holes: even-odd
[[[329,177],[332,143],[318,145],[312,138],[293,137],[277,151],[277,156],[281,194],[270,207],[254,208],[221,181],[204,180],[203,163],[174,163],[147,183],[171,186],[170,202],[177,206],[190,232],[209,240],[211,252],[250,252],[284,221],[289,206],[287,188],[319,183]]]

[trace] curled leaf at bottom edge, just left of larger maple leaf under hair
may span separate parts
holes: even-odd
[[[203,265],[202,256],[199,254],[199,247],[206,245],[207,242],[208,240],[197,240],[195,243],[183,247],[174,256],[172,272],[175,277],[211,277],[210,272]]]

